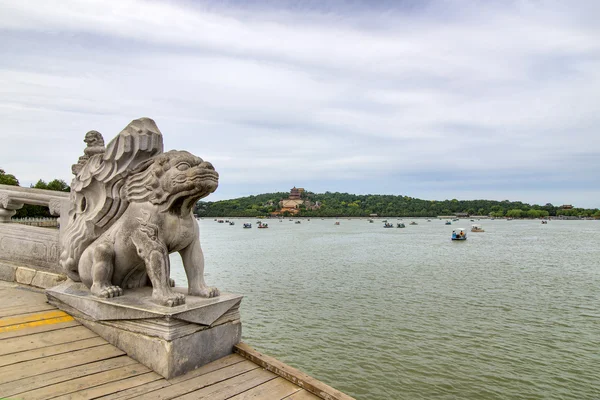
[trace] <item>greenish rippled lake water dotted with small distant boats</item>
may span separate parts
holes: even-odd
[[[600,398],[600,221],[482,220],[453,242],[471,222],[234,220],[199,224],[243,340],[357,399]]]

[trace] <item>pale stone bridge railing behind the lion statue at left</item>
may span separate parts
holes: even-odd
[[[34,221],[12,220],[16,210],[24,204],[48,207],[52,215],[60,216],[66,222],[69,193],[0,185],[0,278],[7,275],[4,280],[18,281],[15,278],[17,268],[29,270],[27,276],[35,275],[36,271],[40,271],[40,276],[43,272],[60,274],[60,231],[31,226],[43,224],[28,223]],[[56,222],[54,224],[56,226]]]

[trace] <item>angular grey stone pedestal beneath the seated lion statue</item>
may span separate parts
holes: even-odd
[[[51,304],[167,379],[233,352],[242,334],[241,295],[186,296],[186,304],[164,307],[151,301],[151,292],[128,289],[100,299],[82,283],[67,281],[46,294]]]

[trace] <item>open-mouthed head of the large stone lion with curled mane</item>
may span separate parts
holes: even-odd
[[[160,210],[187,211],[217,189],[219,174],[211,163],[187,151],[171,150],[135,168],[125,183],[131,203],[149,201]]]

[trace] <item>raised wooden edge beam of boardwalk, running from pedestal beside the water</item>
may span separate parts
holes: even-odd
[[[323,382],[314,379],[304,372],[301,372],[295,368],[290,367],[282,363],[281,361],[262,354],[246,343],[240,342],[234,346],[234,351],[242,357],[252,361],[255,364],[260,365],[267,371],[271,371],[280,377],[287,379],[293,384],[300,386],[304,390],[314,394],[315,396],[324,400],[355,400],[353,397],[348,396],[340,392],[337,389],[332,388],[324,384]]]

